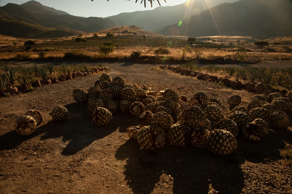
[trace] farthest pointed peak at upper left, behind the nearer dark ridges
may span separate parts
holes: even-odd
[[[41,3],[36,2],[36,1],[28,1],[26,3],[21,4],[20,6],[25,8],[26,10],[35,11],[38,13],[46,13],[50,15],[70,15],[65,11],[60,11],[52,7],[44,6]]]

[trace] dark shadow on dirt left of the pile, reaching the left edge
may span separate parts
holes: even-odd
[[[62,137],[62,141],[68,142],[62,151],[62,155],[74,155],[97,139],[104,138],[115,130],[126,131],[125,119],[122,115],[113,115],[111,122],[103,127],[92,124],[92,117],[87,111],[87,104],[71,103],[65,106],[69,112],[64,121],[49,120],[48,123],[38,127],[30,136],[21,136],[15,130],[0,136],[0,151],[10,150],[21,143],[40,136],[40,140],[56,139]]]

